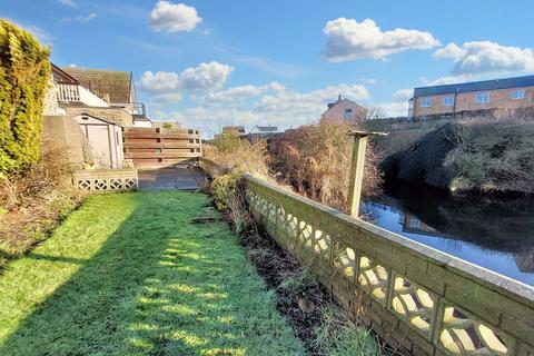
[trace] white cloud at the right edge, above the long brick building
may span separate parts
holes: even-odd
[[[453,76],[534,71],[533,49],[491,41],[465,42],[462,47],[448,43],[435,51],[434,57],[453,59]]]

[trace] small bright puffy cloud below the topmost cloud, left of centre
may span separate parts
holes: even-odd
[[[180,73],[180,86],[186,90],[220,89],[233,70],[234,67],[216,61],[200,63],[198,67],[188,68]]]

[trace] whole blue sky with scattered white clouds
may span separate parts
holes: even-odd
[[[0,0],[58,66],[126,70],[152,119],[295,128],[338,95],[406,116],[414,87],[534,73],[534,1]]]

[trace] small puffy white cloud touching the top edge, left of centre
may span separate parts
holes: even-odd
[[[192,31],[202,19],[194,7],[184,3],[158,1],[150,12],[149,24],[155,31]]]

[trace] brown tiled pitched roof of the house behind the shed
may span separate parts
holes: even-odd
[[[100,98],[109,95],[111,103],[129,103],[132,88],[130,71],[62,67],[63,71],[76,78],[80,86],[89,89]]]

